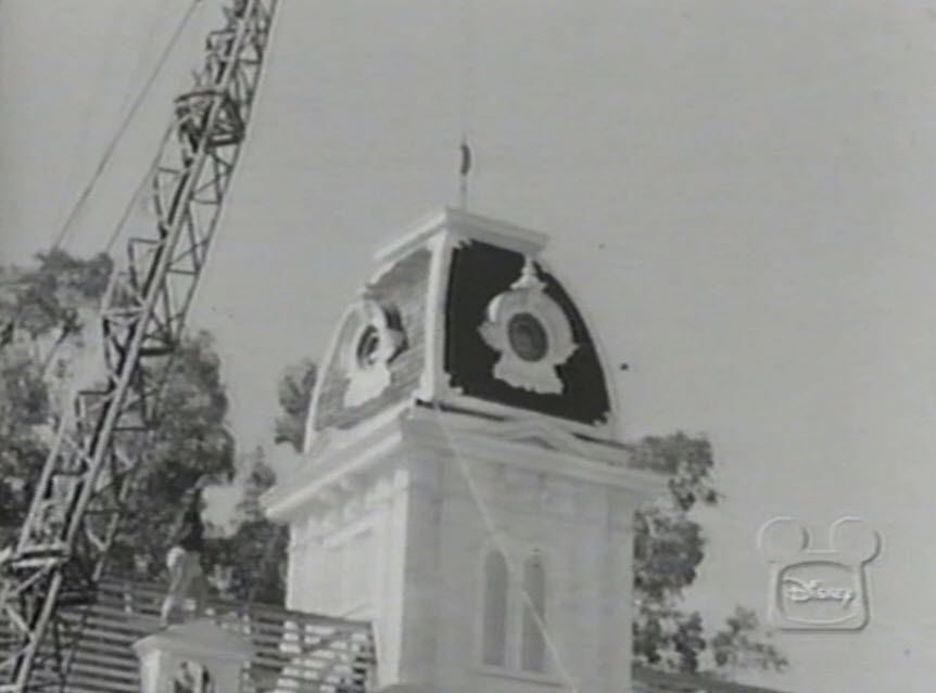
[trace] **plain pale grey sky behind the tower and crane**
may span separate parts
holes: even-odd
[[[187,0],[2,0],[0,253],[47,247]],[[101,247],[187,84],[197,22],[68,248]],[[466,14],[470,21],[465,21]],[[395,230],[456,197],[548,232],[628,437],[707,433],[722,505],[692,603],[763,616],[759,526],[860,515],[871,624],[780,633],[790,691],[936,670],[936,0],[286,0],[191,325],[244,449]],[[756,679],[756,677],[755,677]]]

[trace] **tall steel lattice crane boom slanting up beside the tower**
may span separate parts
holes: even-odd
[[[146,463],[160,392],[180,342],[250,120],[276,0],[235,0],[157,154],[151,235],[132,239],[102,308],[106,375],[62,418],[12,554],[2,560],[0,692],[64,690],[81,624]]]

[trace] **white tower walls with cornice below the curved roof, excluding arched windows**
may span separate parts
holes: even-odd
[[[657,479],[517,440],[501,424],[423,416],[319,460],[336,472],[295,479],[291,498],[270,505],[292,518],[288,605],[372,620],[381,686],[629,691],[632,517]],[[523,435],[537,433],[557,437]],[[481,656],[492,550],[510,574],[503,667]],[[533,555],[546,581],[541,673],[519,663],[522,565]]]

